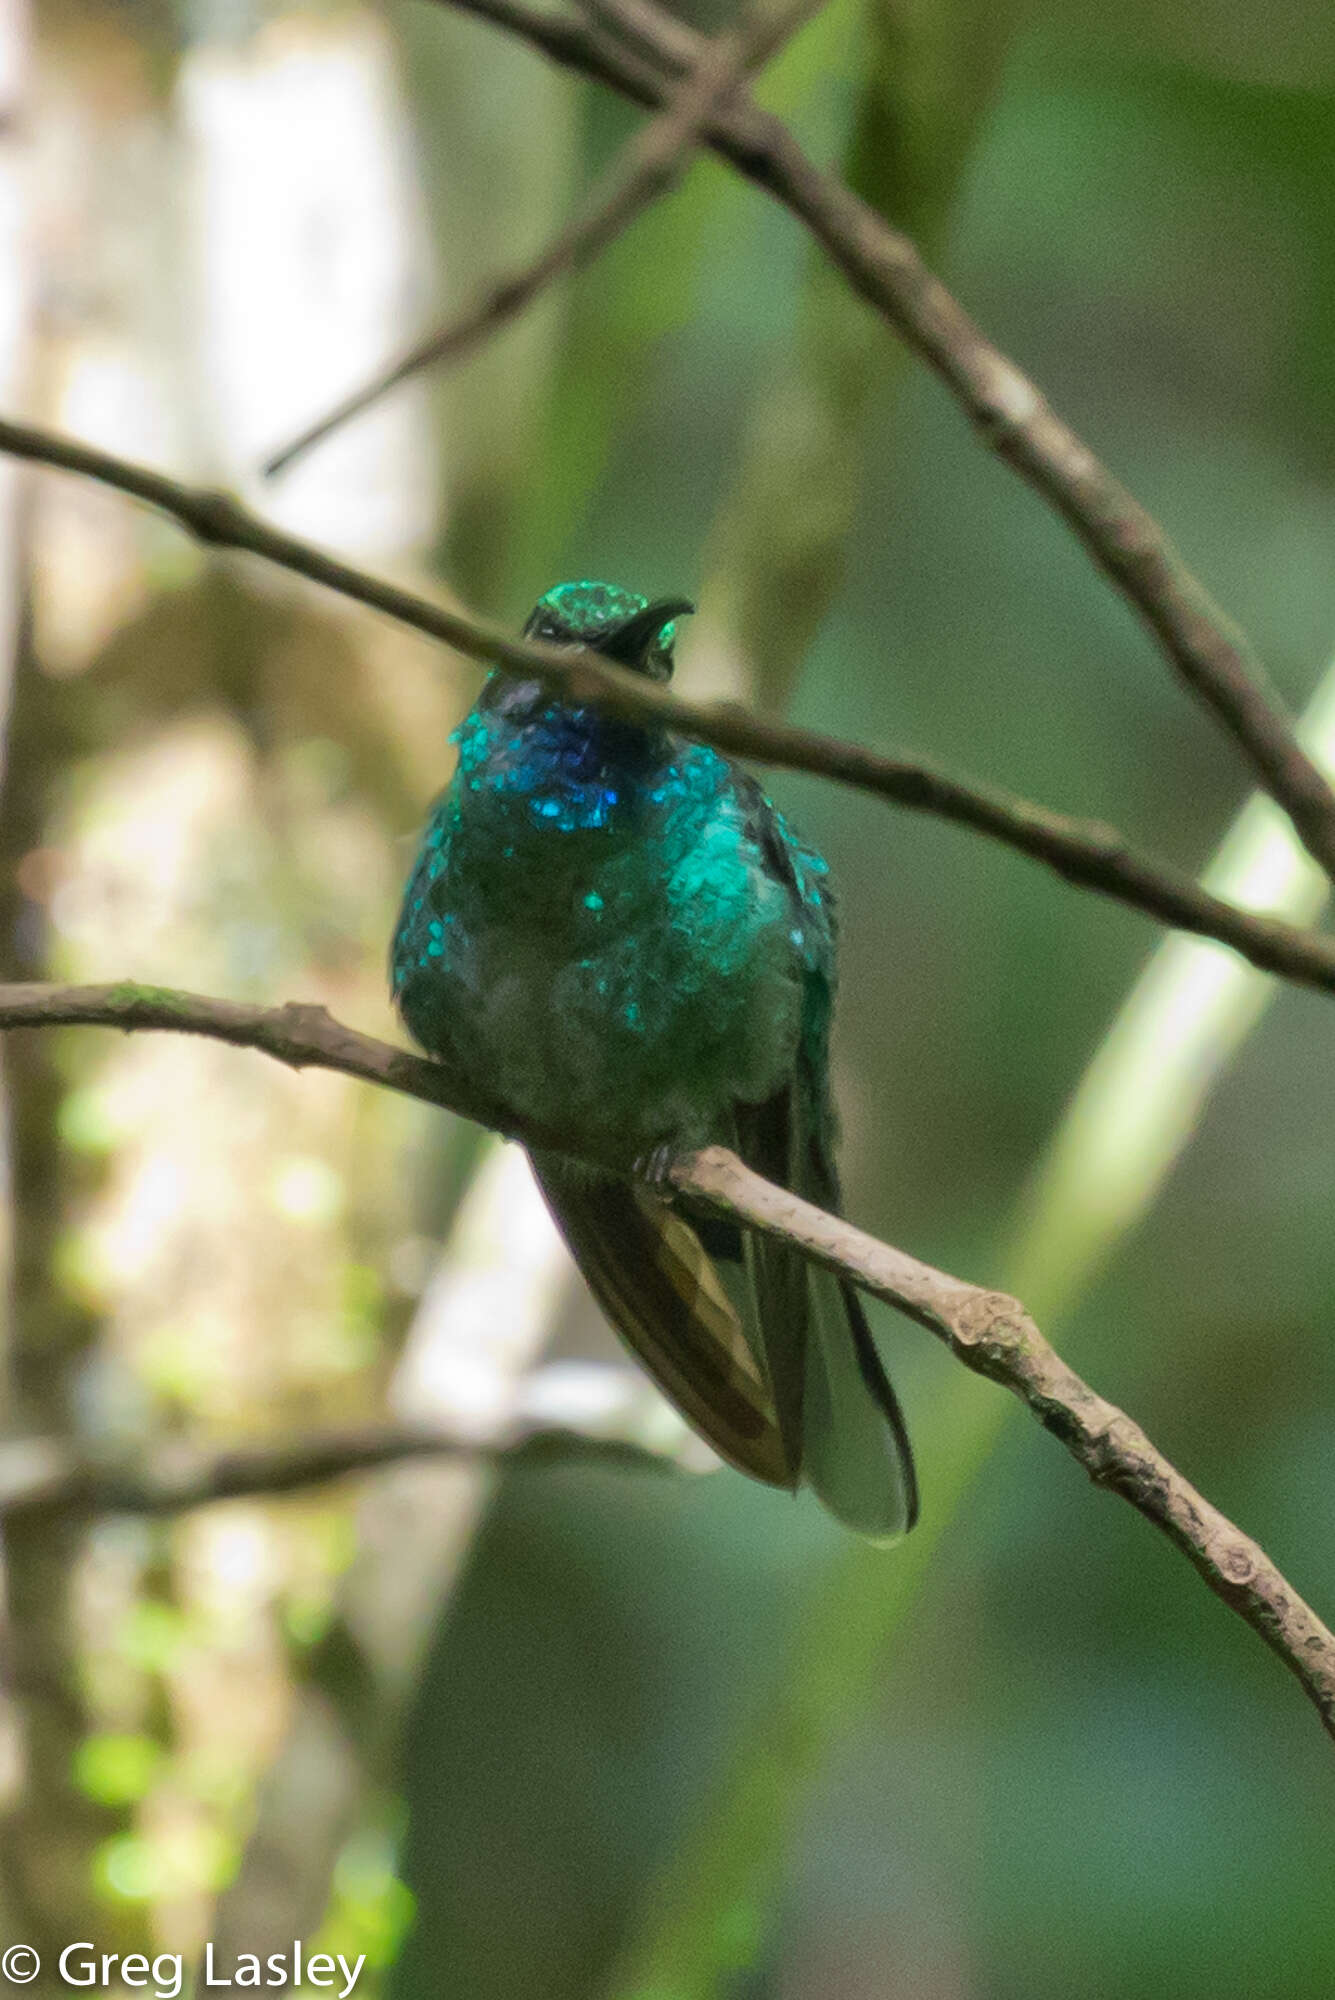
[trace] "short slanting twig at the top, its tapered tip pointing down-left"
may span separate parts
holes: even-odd
[[[264,476],[274,478],[296,464],[312,446],[380,402],[410,376],[424,368],[446,368],[462,362],[512,320],[518,320],[558,278],[586,270],[618,236],[626,234],[646,208],[677,186],[717,104],[735,90],[747,72],[769,62],[819,4],[821,0],[795,0],[775,16],[743,22],[715,40],[699,36],[683,66],[683,82],[668,98],[668,108],[644,132],[628,140],[580,214],[558,230],[530,264],[508,278],[494,280],[482,298],[458,318],[418,340],[392,366],[344,396],[318,422],[308,424],[280,452],[274,452],[262,468]]]

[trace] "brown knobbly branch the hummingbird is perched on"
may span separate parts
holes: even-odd
[[[0,986],[0,1028],[86,1022],[108,1028],[174,1028],[258,1048],[294,1068],[342,1070],[402,1090],[428,1104],[478,1116],[480,1098],[462,1090],[440,1064],[408,1056],[332,1020],[324,1008],[246,1008],[164,988]],[[554,1142],[554,1134],[498,1120],[518,1138]],[[560,1136],[556,1136],[560,1144]],[[781,1236],[815,1262],[843,1272],[861,1290],[887,1300],[949,1346],[975,1374],[999,1382],[1033,1410],[1099,1486],[1129,1500],[1209,1588],[1271,1646],[1305,1688],[1325,1730],[1335,1736],[1335,1634],[1297,1596],[1249,1536],[1209,1504],[1121,1410],[1105,1402],[1053,1352],[1017,1300],[965,1284],[917,1258],[865,1236],[809,1202],[753,1174],[721,1146],[685,1154],[669,1166],[671,1184],[769,1236]],[[274,1488],[270,1488],[274,1490]]]

